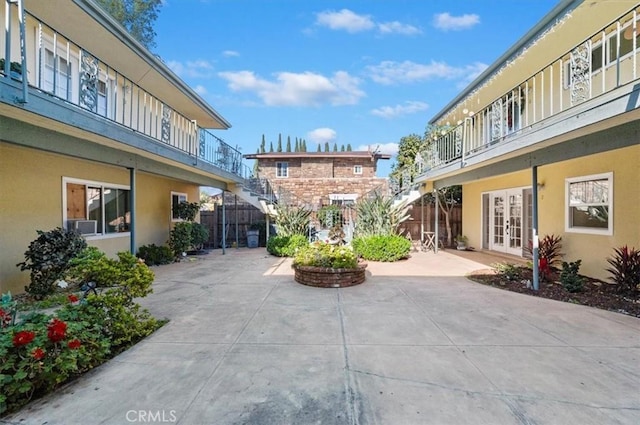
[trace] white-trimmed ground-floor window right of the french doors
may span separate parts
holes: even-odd
[[[613,234],[613,173],[565,180],[567,232]]]

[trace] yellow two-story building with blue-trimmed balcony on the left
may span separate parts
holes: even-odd
[[[0,0],[0,290],[36,230],[110,255],[165,244],[172,206],[243,183],[230,124],[91,0]]]

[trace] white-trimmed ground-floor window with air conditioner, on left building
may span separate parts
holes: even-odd
[[[77,229],[90,235],[130,231],[128,186],[63,178],[63,198],[63,218],[68,229]]]

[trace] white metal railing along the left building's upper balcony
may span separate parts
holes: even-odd
[[[29,89],[62,99],[232,174],[248,176],[237,149],[28,13],[24,21],[29,42],[21,40],[18,7],[14,2],[3,3],[7,25],[0,32],[0,48],[5,49],[4,55],[0,54],[0,79],[22,81],[26,75]],[[26,72],[21,45],[36,46],[25,49]]]

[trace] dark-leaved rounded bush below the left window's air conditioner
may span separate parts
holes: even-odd
[[[36,298],[54,291],[54,283],[69,267],[69,262],[77,256],[87,242],[75,231],[57,227],[48,232],[37,230],[38,238],[29,244],[24,253],[25,261],[18,263],[20,270],[29,270],[30,284],[25,290]]]

